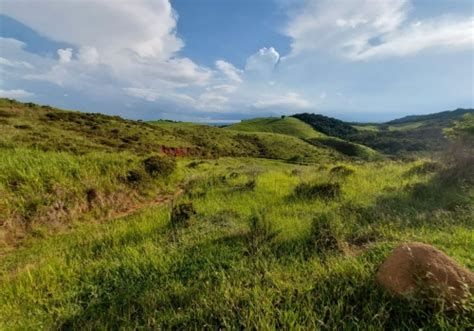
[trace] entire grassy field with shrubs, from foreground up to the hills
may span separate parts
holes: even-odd
[[[49,110],[3,102],[2,330],[474,327],[472,300],[451,311],[374,280],[407,241],[474,269],[470,149],[394,161],[362,146],[377,156],[364,159],[312,145],[309,126],[302,137],[59,110],[48,131]],[[472,127],[446,133],[467,144]]]

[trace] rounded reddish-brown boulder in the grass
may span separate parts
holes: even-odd
[[[456,304],[474,294],[474,273],[435,247],[418,242],[395,248],[376,278],[395,295],[425,293]]]

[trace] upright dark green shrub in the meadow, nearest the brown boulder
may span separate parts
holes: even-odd
[[[336,218],[330,214],[321,214],[313,219],[309,243],[318,253],[340,251],[340,228]]]

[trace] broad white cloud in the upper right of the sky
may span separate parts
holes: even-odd
[[[405,56],[438,47],[474,46],[472,17],[410,23],[409,0],[308,1],[291,15],[285,33],[291,56],[329,52],[351,60]]]

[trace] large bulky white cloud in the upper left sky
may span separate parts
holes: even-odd
[[[57,62],[35,56],[38,70],[21,73],[23,79],[81,91],[135,88],[173,94],[176,88],[205,86],[213,76],[212,70],[179,56],[184,44],[176,36],[177,16],[168,0],[5,0],[2,13],[78,50],[58,50]],[[16,59],[31,56],[23,43],[10,48]]]

